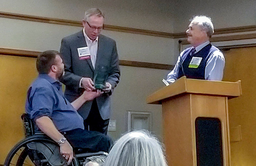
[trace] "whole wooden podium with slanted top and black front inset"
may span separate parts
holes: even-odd
[[[181,77],[147,97],[162,104],[163,141],[169,166],[230,166],[228,99],[241,82]]]

